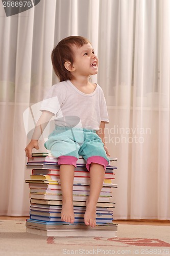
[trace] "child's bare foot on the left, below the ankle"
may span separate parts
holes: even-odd
[[[64,222],[74,223],[75,215],[72,202],[63,202],[61,210],[61,220]]]

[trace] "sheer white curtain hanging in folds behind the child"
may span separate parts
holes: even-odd
[[[23,113],[37,118],[36,103],[58,81],[53,47],[81,35],[100,60],[92,79],[106,97],[106,142],[118,158],[114,218],[170,220],[169,0],[41,0],[9,17],[0,4],[0,19],[0,215],[29,215]]]

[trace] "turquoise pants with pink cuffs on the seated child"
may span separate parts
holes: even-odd
[[[45,147],[59,159],[59,164],[73,164],[82,156],[90,168],[90,163],[102,164],[105,168],[109,163],[104,144],[95,131],[56,126],[48,136]]]

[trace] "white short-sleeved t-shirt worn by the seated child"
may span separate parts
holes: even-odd
[[[69,80],[54,84],[40,110],[54,113],[58,126],[98,131],[101,121],[109,122],[106,100],[98,84],[90,94],[79,91]]]

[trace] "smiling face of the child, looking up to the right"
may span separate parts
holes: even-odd
[[[94,49],[88,43],[80,48],[73,46],[75,58],[73,67],[75,69],[74,76],[90,76],[98,73],[98,57],[94,53]]]

